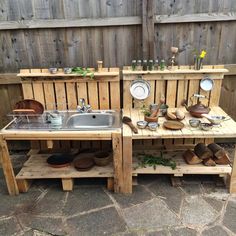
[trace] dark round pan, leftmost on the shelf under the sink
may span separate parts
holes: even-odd
[[[73,160],[70,154],[53,154],[47,159],[47,163],[53,168],[62,168],[69,166]]]

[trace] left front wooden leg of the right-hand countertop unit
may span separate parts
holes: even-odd
[[[132,152],[132,137],[131,136],[123,136],[123,193],[132,193],[132,160],[133,160],[133,152]]]

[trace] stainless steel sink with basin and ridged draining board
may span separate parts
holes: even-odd
[[[61,124],[48,122],[47,113],[38,117],[17,117],[8,130],[112,130],[121,127],[121,112],[118,110],[93,110],[90,113],[59,111]]]

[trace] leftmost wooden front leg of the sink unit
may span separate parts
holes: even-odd
[[[5,175],[8,193],[10,195],[18,195],[19,189],[16,183],[15,174],[13,171],[10,155],[8,152],[7,142],[0,136],[1,156],[2,156],[2,168]]]

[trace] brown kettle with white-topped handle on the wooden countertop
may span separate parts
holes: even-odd
[[[192,105],[193,104],[193,97],[199,98],[197,104]],[[185,106],[186,110],[194,117],[197,118],[201,118],[202,114],[208,114],[210,112],[210,108],[203,105],[200,101],[200,98],[206,98],[204,95],[200,95],[200,94],[194,94],[191,98],[191,106],[187,106],[186,100],[184,100],[182,102],[182,105]]]

